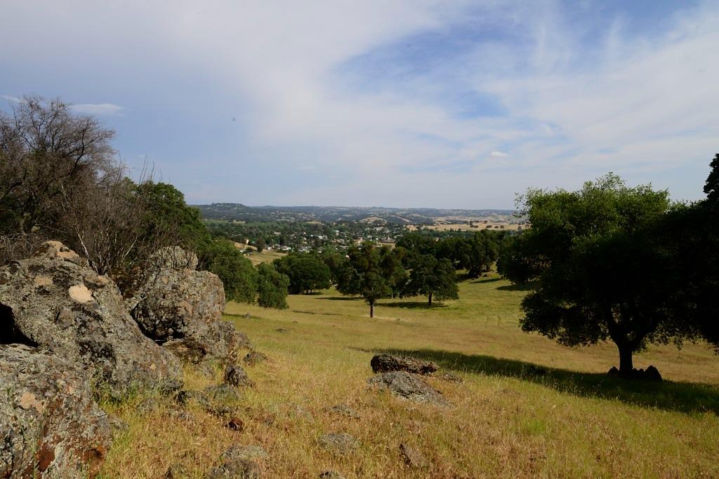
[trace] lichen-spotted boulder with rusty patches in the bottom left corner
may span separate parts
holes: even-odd
[[[98,473],[112,432],[83,371],[47,351],[0,345],[0,384],[1,478]]]

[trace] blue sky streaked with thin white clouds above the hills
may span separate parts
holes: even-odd
[[[719,3],[5,0],[0,99],[60,97],[190,203],[512,208],[608,171],[702,196]]]

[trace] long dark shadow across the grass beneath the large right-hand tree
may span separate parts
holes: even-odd
[[[434,361],[442,368],[518,378],[576,396],[622,401],[682,413],[710,411],[719,415],[719,387],[675,381],[632,381],[605,373],[545,368],[532,363],[444,350],[373,350]]]

